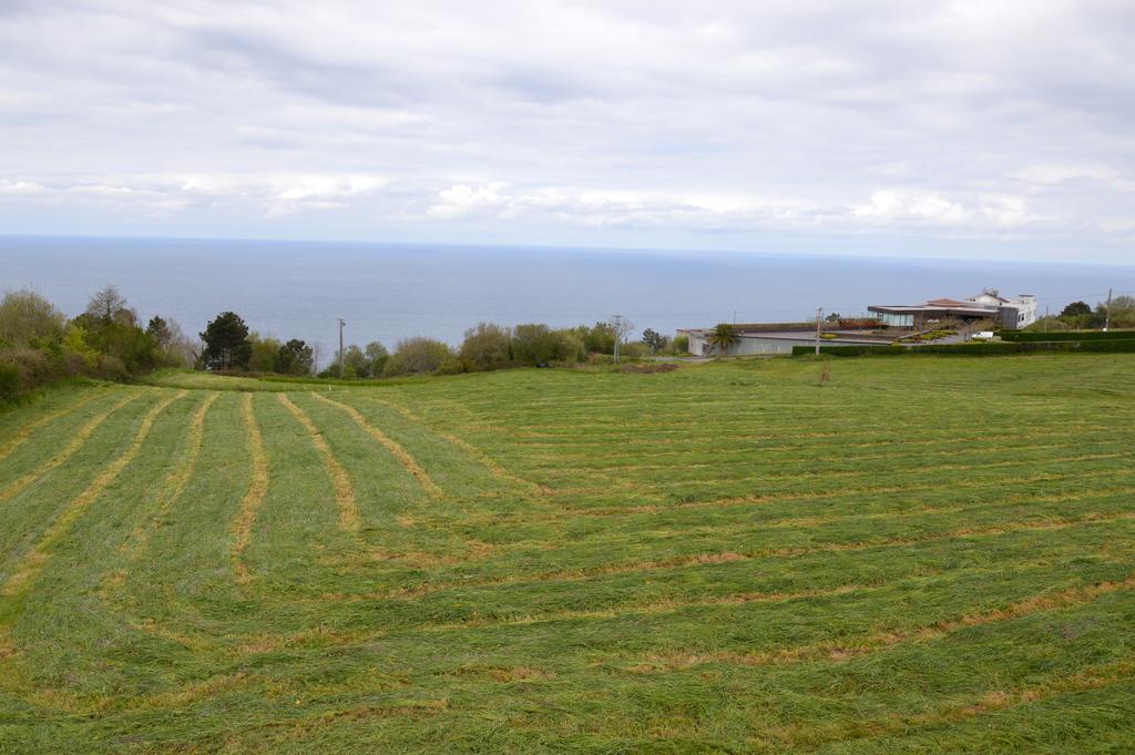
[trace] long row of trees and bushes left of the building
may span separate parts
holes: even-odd
[[[424,336],[400,341],[393,352],[379,342],[352,344],[342,354],[336,351],[318,376],[380,378],[572,364],[612,354],[616,341],[628,358],[683,354],[689,345],[684,336],[671,341],[650,328],[641,341],[628,342],[629,329],[625,321],[573,328],[480,322],[457,347]],[[197,338],[169,317],[143,322],[115,286],[96,291],[70,319],[34,291],[0,296],[0,400],[76,377],[128,380],[167,367],[313,376],[319,362],[318,346],[262,336],[233,311],[215,317]]]

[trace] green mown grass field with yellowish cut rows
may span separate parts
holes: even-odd
[[[1129,753],[1133,420],[1124,354],[51,392],[0,752]]]

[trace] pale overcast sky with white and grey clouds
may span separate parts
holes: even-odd
[[[1135,263],[1135,3],[0,0],[0,232]]]

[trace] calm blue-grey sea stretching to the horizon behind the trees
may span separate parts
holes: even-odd
[[[187,335],[234,310],[261,334],[320,344],[415,335],[461,342],[481,320],[552,326],[629,318],[636,333],[804,321],[868,304],[1029,293],[1059,312],[1135,291],[1135,267],[802,254],[212,240],[0,236],[0,288],[28,286],[68,314],[114,284],[138,313]]]

